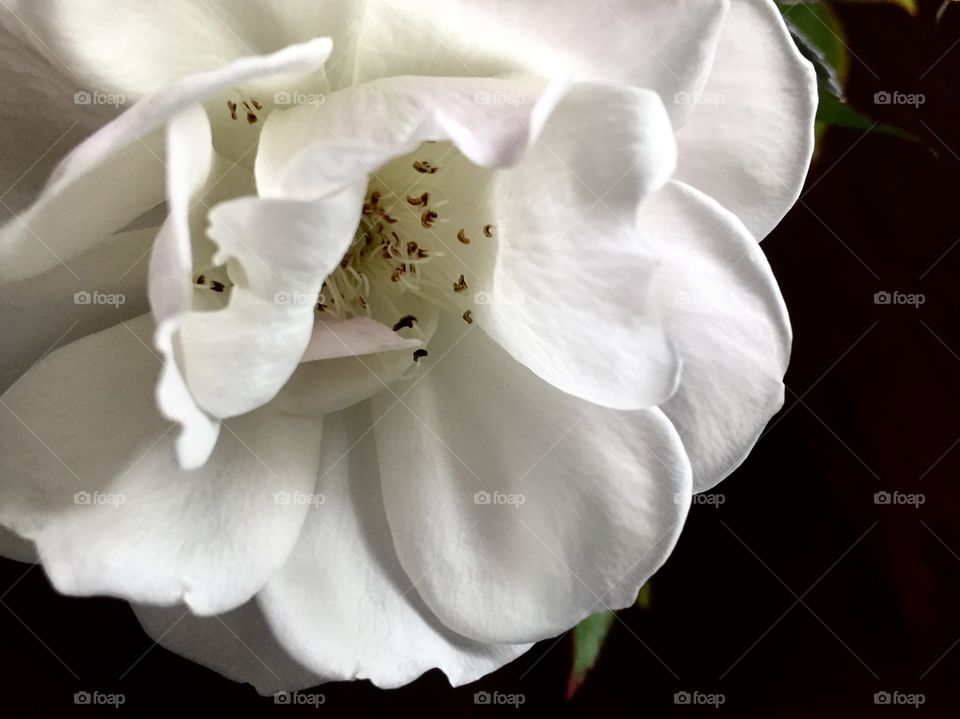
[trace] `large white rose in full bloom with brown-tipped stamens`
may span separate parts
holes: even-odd
[[[0,522],[175,651],[264,693],[472,681],[632,603],[781,405],[757,240],[816,96],[772,2],[3,24]]]

